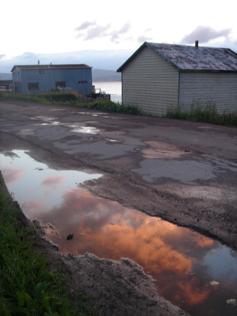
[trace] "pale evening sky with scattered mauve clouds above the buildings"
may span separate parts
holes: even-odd
[[[116,70],[121,54],[124,62],[144,41],[194,45],[199,40],[199,46],[237,52],[236,9],[235,0],[3,1],[0,72],[14,64],[38,64],[37,58],[46,64],[47,59],[86,63],[89,51],[95,60],[103,51],[108,54],[96,61],[96,68]],[[112,60],[120,58],[118,66],[106,65],[109,52]]]

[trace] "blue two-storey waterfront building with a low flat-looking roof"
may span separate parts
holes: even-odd
[[[92,93],[91,69],[85,64],[15,65],[11,70],[14,93],[42,93],[61,88],[89,94]]]

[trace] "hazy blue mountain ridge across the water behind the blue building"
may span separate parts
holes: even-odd
[[[0,80],[12,80],[12,74],[0,73]],[[114,70],[94,69],[92,68],[92,81],[121,81],[121,73]]]

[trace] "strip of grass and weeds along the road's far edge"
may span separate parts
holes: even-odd
[[[0,93],[0,97],[44,104],[76,106],[80,108],[84,107],[107,112],[152,116],[142,112],[137,106],[123,106],[119,102],[113,102],[109,100],[95,100],[93,102],[86,101],[82,94],[78,94],[76,91],[62,93],[39,93],[34,95]],[[193,102],[190,107],[169,106],[164,117],[169,119],[183,119],[195,122],[237,127],[237,109],[233,112],[224,111],[219,113],[216,109],[216,104],[212,101],[207,101],[204,103],[201,100],[198,100]]]

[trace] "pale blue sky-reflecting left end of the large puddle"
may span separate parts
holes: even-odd
[[[25,203],[23,211],[30,219],[39,217],[39,211],[49,212],[62,203],[67,190],[77,187],[83,181],[101,176],[49,169],[46,164],[33,160],[23,150],[14,150],[13,153],[11,157],[0,154],[1,171],[9,191],[15,193],[21,206]]]

